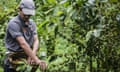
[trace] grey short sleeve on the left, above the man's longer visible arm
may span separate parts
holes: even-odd
[[[9,23],[8,24],[8,32],[13,38],[18,36],[22,36],[20,26],[17,23]]]

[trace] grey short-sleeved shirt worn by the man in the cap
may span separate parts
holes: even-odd
[[[32,47],[34,35],[36,34],[36,24],[33,20],[29,20],[29,24],[26,25],[20,15],[18,15],[8,23],[5,36],[5,46],[10,51],[23,51],[16,40],[16,37],[23,36],[30,47]]]

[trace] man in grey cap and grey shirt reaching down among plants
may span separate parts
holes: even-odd
[[[35,23],[30,16],[35,14],[33,0],[21,0],[19,14],[8,23],[5,36],[7,57],[4,64],[4,72],[16,72],[15,61],[21,58],[27,59],[28,64],[38,64],[45,69],[47,64],[38,59],[38,37]],[[14,67],[15,66],[15,67]]]

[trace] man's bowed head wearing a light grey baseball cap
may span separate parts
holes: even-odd
[[[20,5],[20,15],[26,21],[31,15],[35,15],[35,4],[33,0],[21,0]]]

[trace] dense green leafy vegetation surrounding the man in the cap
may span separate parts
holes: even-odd
[[[5,28],[17,14],[19,1],[0,0],[1,67]],[[40,40],[38,56],[47,61],[47,72],[120,71],[119,0],[34,1],[36,15],[32,19]]]

